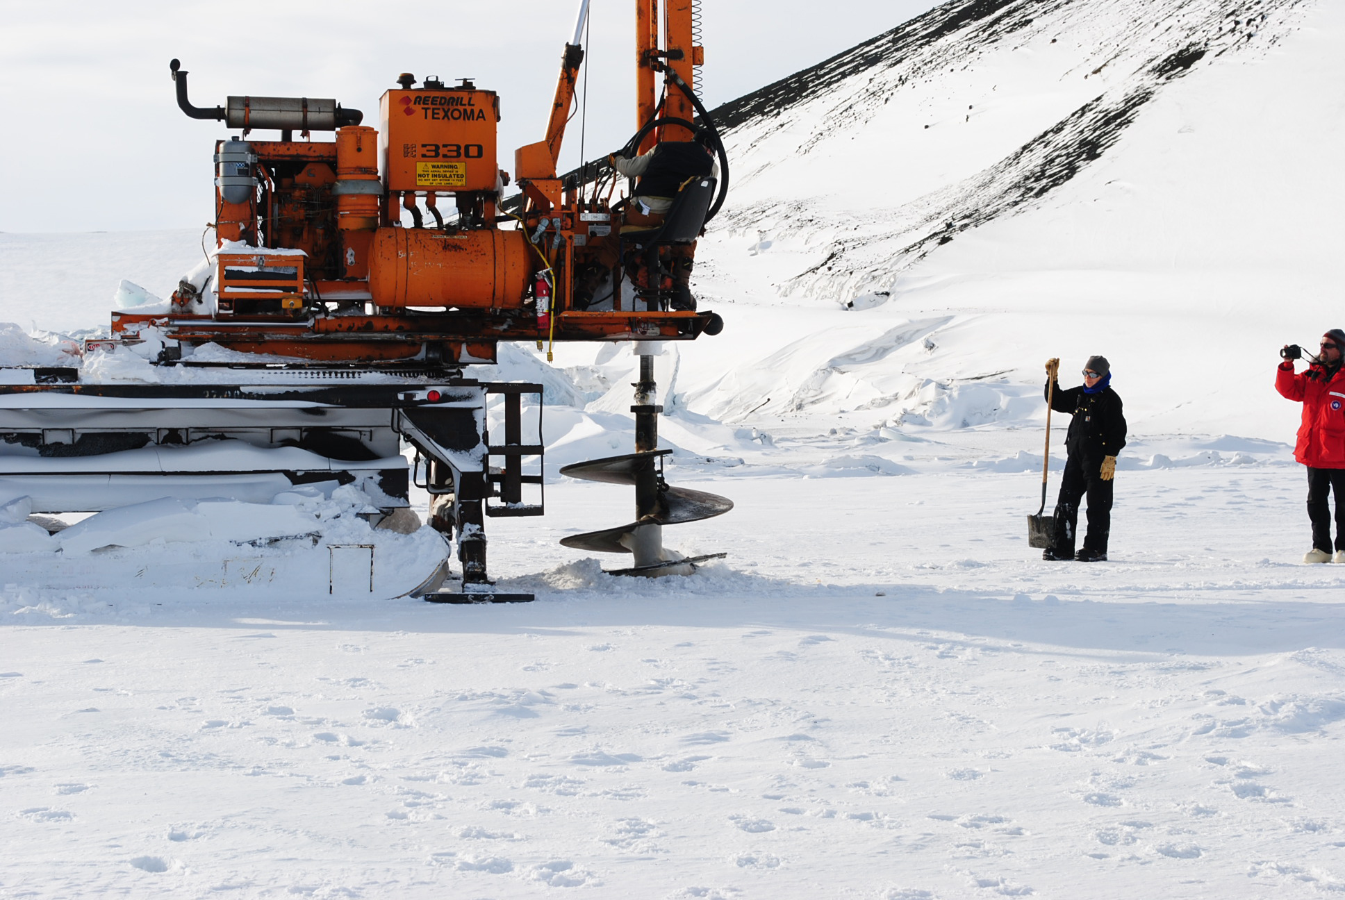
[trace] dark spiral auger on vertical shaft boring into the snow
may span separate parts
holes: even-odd
[[[722,515],[733,509],[733,500],[718,494],[670,487],[663,479],[663,457],[672,451],[658,448],[659,413],[663,406],[658,402],[654,357],[660,348],[656,344],[638,344],[635,352],[640,359],[640,379],[635,382],[635,404],[631,406],[635,413],[635,452],[573,463],[561,470],[561,475],[586,482],[633,486],[635,521],[615,529],[573,534],[561,538],[561,543],[593,553],[633,554],[633,566],[612,570],[611,574],[690,574],[697,564],[722,558],[725,554],[685,557],[677,550],[668,550],[663,546],[663,526]]]

